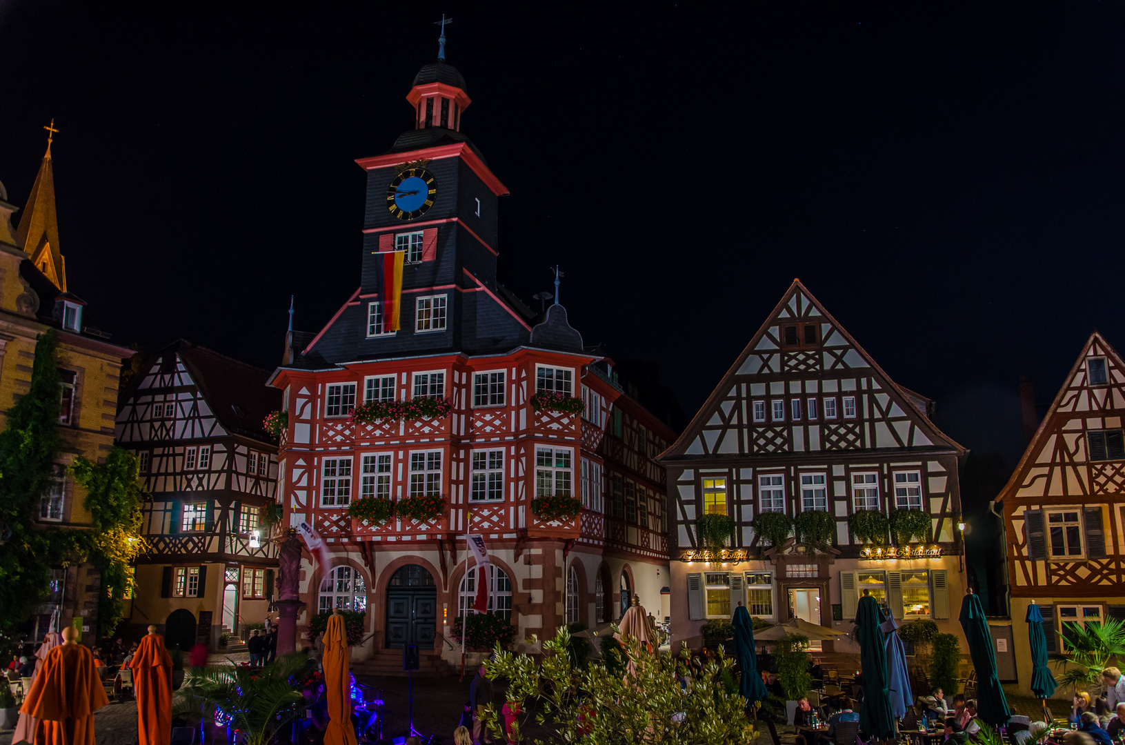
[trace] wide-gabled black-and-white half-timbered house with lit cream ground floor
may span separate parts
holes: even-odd
[[[729,619],[739,602],[763,620],[799,617],[848,632],[866,591],[897,619],[932,618],[960,635],[950,619],[951,595],[965,586],[956,528],[965,450],[934,425],[929,406],[794,280],[660,457],[676,643],[699,644],[700,627]],[[792,537],[772,546],[752,527],[762,513],[800,519],[816,510],[831,517],[830,546]],[[894,546],[881,536],[865,545],[849,527],[861,510],[919,510],[930,530],[919,542]],[[696,520],[709,513],[734,520],[719,554],[698,540]]]

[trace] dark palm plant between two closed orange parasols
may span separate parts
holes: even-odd
[[[243,745],[266,745],[302,713],[306,701],[298,682],[314,665],[305,655],[290,654],[255,671],[233,663],[194,671],[172,715],[194,718],[214,710],[241,733]]]

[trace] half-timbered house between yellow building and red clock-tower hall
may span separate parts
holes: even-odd
[[[277,546],[262,508],[277,500],[277,440],[262,429],[281,401],[269,371],[178,341],[150,356],[122,394],[117,442],[148,493],[127,622],[163,626],[170,645],[215,645],[261,623]]]

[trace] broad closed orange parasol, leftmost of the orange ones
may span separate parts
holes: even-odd
[[[93,654],[78,631],[63,629],[63,643],[47,654],[19,710],[39,720],[33,745],[93,745],[93,712],[109,703],[93,667]]]

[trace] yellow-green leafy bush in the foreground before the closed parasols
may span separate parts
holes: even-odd
[[[541,663],[500,649],[485,663],[490,679],[507,680],[508,702],[519,703],[523,711],[533,704],[536,722],[551,735],[549,739],[526,738],[520,731],[525,721],[516,721],[514,739],[531,745],[749,745],[757,737],[745,712],[745,699],[722,684],[724,671],[732,680],[731,658],[708,663],[682,689],[677,675],[686,675],[686,647],[676,658],[668,653],[649,654],[629,639],[626,653],[634,668],[621,675],[602,662],[575,667],[567,654],[569,637],[561,629],[543,641]],[[489,706],[486,716],[492,731],[501,734],[496,707]]]

